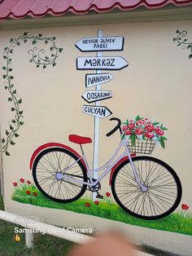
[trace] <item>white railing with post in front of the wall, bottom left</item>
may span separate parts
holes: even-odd
[[[11,214],[4,210],[0,210],[0,219],[10,223],[15,223],[28,229],[43,230],[46,232],[46,234],[49,234],[51,236],[57,236],[77,244],[85,244],[86,242],[94,240],[94,237],[86,236],[77,232],[68,231],[67,229],[56,227],[47,223],[41,223],[39,221],[34,220],[33,218],[26,218],[20,215]],[[25,241],[26,247],[31,248],[33,246],[34,233],[25,232]],[[152,254],[146,254],[138,250],[135,251],[135,254],[137,256],[153,256]]]

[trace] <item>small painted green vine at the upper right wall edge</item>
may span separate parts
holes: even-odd
[[[188,42],[188,39],[186,38],[187,36],[187,31],[182,30],[179,31],[177,29],[177,38],[173,38],[173,42],[177,42],[177,46],[181,46],[183,50],[187,49],[190,51],[189,54],[189,59],[192,58],[192,42]]]

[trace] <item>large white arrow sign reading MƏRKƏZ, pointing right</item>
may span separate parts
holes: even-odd
[[[129,63],[120,56],[76,58],[76,69],[120,70],[128,65]]]

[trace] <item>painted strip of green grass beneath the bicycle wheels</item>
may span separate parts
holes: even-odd
[[[37,192],[37,196],[33,196],[33,192]],[[71,210],[76,213],[108,218],[111,220],[120,221],[122,223],[129,223],[131,225],[149,227],[168,232],[178,232],[192,236],[192,214],[187,214],[183,210],[171,214],[166,218],[149,221],[135,218],[125,213],[124,210],[121,210],[120,207],[113,203],[111,198],[108,198],[107,196],[104,197],[103,201],[99,202],[99,205],[95,205],[93,201],[87,198],[81,198],[78,201],[74,201],[69,204],[62,204],[55,201],[50,201],[48,198],[46,198],[46,196],[43,196],[41,192],[37,191],[37,188],[34,189],[33,192],[31,195],[27,195],[24,189],[15,188],[12,199],[24,204]],[[87,202],[90,204],[89,207],[85,206],[85,203]]]

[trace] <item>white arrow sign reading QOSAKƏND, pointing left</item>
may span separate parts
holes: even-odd
[[[87,90],[81,97],[88,103],[91,103],[94,101],[111,98],[112,92],[111,90]]]

